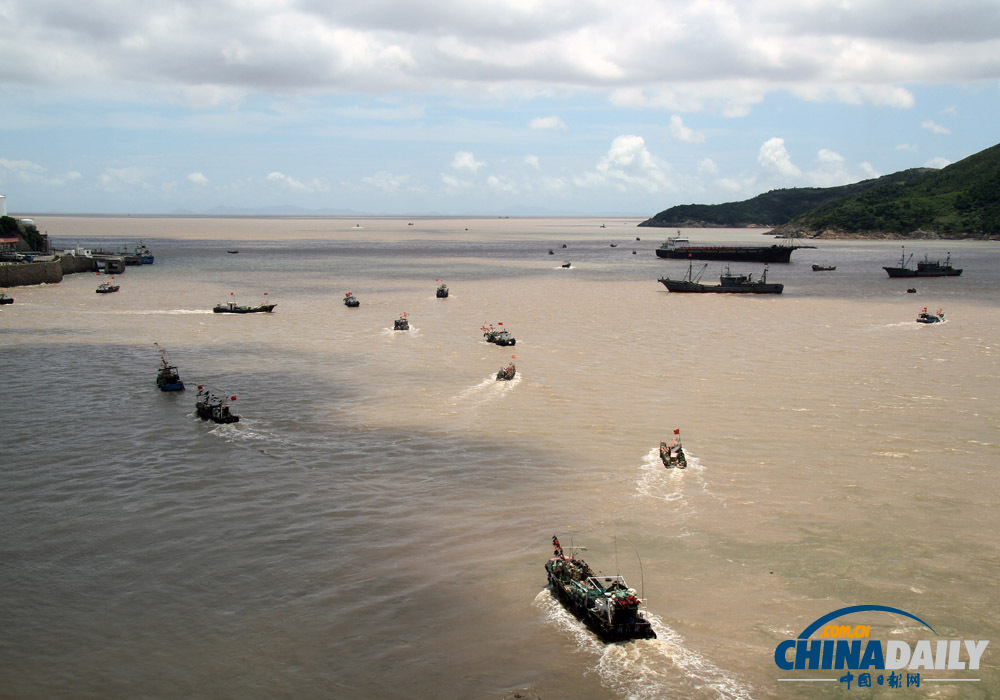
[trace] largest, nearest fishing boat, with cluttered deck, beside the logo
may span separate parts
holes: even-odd
[[[552,536],[554,556],[545,564],[552,594],[603,642],[655,639],[653,626],[640,606],[642,600],[622,576],[595,574],[570,547],[563,552],[559,538]]]

